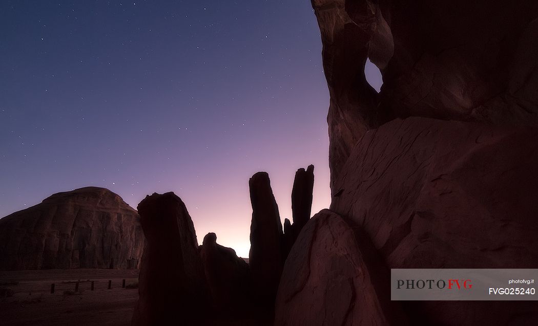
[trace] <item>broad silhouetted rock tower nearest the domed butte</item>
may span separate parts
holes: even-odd
[[[154,193],[138,212],[147,242],[132,325],[190,325],[207,316],[202,261],[185,204],[173,192]]]

